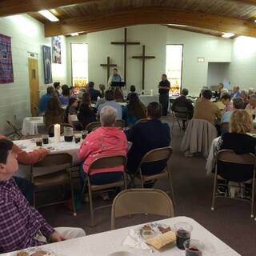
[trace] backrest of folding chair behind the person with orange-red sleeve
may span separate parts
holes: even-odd
[[[60,170],[66,170],[66,168],[70,168],[72,166],[72,156],[67,153],[59,153],[59,154],[48,154],[46,158],[42,159],[42,161],[34,163],[31,166],[31,181],[33,182],[33,178],[49,174],[55,173]]]

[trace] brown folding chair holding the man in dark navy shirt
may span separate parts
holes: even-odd
[[[134,174],[134,177],[131,176],[131,182],[135,186],[134,178],[138,177],[141,180],[141,186],[144,188],[145,182],[155,181],[159,178],[168,178],[170,191],[166,191],[166,193],[170,193],[175,205],[174,198],[174,188],[172,184],[172,178],[170,175],[170,156],[173,153],[173,149],[170,146],[158,148],[155,150],[150,150],[150,152],[146,153],[142,158],[142,161],[138,165],[138,170]],[[162,170],[159,174],[152,175],[143,175],[142,174],[142,165],[146,162],[157,162],[161,160],[166,160],[166,168]]]

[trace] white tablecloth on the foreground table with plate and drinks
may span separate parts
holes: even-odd
[[[224,242],[211,234],[203,226],[195,222],[192,218],[175,217],[167,218],[159,222],[174,226],[177,222],[189,222],[193,226],[191,238],[199,239],[206,246],[203,256],[239,256],[235,250],[231,249]],[[140,225],[142,226],[142,225]],[[111,230],[103,233],[92,234],[82,238],[66,240],[42,246],[51,250],[56,255],[61,256],[107,256],[116,251],[130,251],[133,255],[161,255],[161,256],[185,256],[184,250],[179,250],[175,245],[166,246],[163,250],[154,250],[154,253],[132,250],[126,246],[122,246],[123,240],[129,234],[132,227],[126,227],[119,230]],[[232,234],[230,234],[232,235]],[[14,253],[3,254],[14,256]]]

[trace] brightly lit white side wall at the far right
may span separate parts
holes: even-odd
[[[256,38],[235,38],[229,68],[230,86],[256,89]]]

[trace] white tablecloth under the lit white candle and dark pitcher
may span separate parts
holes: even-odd
[[[77,152],[80,147],[80,143],[73,142],[65,142],[64,137],[61,138],[61,142],[54,143],[54,138],[49,138],[50,143],[43,145],[46,147],[53,147],[53,150],[50,151],[50,154],[56,153],[68,153],[71,154],[73,157],[73,165],[77,166],[81,161],[78,159]],[[16,145],[22,148],[22,150],[26,150],[30,152],[37,148],[33,139],[26,139],[20,141],[14,141]],[[46,170],[46,173],[49,173],[50,170]],[[19,165],[18,172],[15,173],[15,176],[22,177],[22,178],[30,178],[30,166],[22,166]]]

